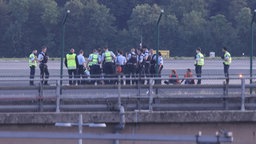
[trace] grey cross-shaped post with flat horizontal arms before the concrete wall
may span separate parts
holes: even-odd
[[[57,122],[57,123],[55,123],[55,126],[58,126],[58,127],[78,126],[78,133],[80,135],[83,134],[83,126],[88,126],[88,127],[107,127],[105,123],[83,123],[83,115],[82,114],[79,114],[78,123],[62,123],[62,122]],[[83,139],[78,139],[78,144],[83,144]]]

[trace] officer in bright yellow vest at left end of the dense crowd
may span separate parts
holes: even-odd
[[[75,49],[71,48],[70,53],[66,54],[65,66],[68,68],[69,85],[76,85],[76,81],[71,80],[72,78],[77,78],[78,60]]]

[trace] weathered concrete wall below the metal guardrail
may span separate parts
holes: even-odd
[[[106,122],[107,128],[84,128],[85,133],[114,133],[119,122],[117,112],[84,112],[84,122]],[[0,131],[13,132],[72,132],[77,127],[55,127],[55,122],[77,122],[79,113],[1,113]],[[161,134],[161,135],[203,135],[215,136],[216,131],[232,131],[234,144],[256,143],[255,111],[179,111],[179,112],[127,112],[123,134]],[[53,139],[1,139],[0,144],[74,144],[77,140]],[[84,140],[86,144],[111,144],[113,141]],[[135,142],[121,141],[120,144],[176,144],[178,142]],[[190,144],[188,142],[179,144]],[[192,142],[191,144],[195,144]]]

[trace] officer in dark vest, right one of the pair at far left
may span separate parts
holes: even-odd
[[[40,77],[42,79],[41,83],[44,85],[49,85],[48,84],[48,78],[49,78],[49,71],[48,71],[48,66],[47,66],[47,62],[49,57],[47,56],[47,47],[46,46],[42,46],[42,52],[39,53],[38,55],[38,62],[39,64],[39,68],[40,68]]]

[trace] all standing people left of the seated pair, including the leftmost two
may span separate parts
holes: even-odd
[[[49,71],[47,67],[48,56],[47,47],[42,47],[42,52],[36,56],[37,50],[29,56],[30,67],[30,85],[34,85],[35,67],[39,62],[40,75],[42,83],[48,85]],[[113,80],[117,75],[127,77],[153,77],[160,76],[163,69],[163,57],[159,52],[158,55],[153,53],[153,49],[148,50],[146,46],[140,49],[132,48],[129,53],[124,55],[123,51],[118,50],[116,53],[110,51],[107,47],[102,49],[93,49],[92,53],[86,59],[84,51],[80,50],[79,54],[71,48],[65,56],[65,66],[68,70],[69,85],[82,84],[115,84]],[[90,77],[91,80],[86,78]],[[93,78],[104,77],[104,81],[95,81]],[[127,84],[138,83],[138,80],[127,80]]]

